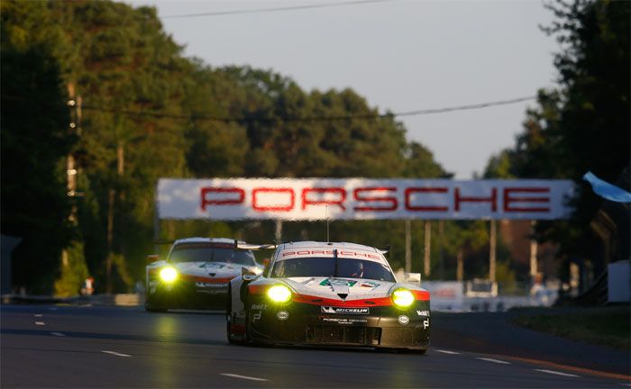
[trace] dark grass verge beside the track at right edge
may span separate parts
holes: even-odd
[[[519,309],[512,322],[531,330],[599,346],[629,350],[629,306]]]

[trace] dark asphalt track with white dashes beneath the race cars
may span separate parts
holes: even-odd
[[[3,388],[631,386],[628,373],[550,362],[535,351],[511,355],[497,339],[453,331],[462,322],[477,328],[471,315],[438,315],[425,355],[232,346],[219,312],[3,305],[0,315]]]

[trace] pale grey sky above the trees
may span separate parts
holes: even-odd
[[[542,1],[126,1],[157,7],[187,57],[212,67],[271,69],[306,91],[352,88],[380,113],[536,95],[553,87],[553,20]],[[321,5],[276,12],[173,17]],[[534,101],[405,116],[407,139],[425,145],[456,178],[481,173],[511,147]]]

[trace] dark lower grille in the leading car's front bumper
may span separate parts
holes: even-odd
[[[340,343],[379,346],[381,329],[376,327],[306,326],[306,343]]]

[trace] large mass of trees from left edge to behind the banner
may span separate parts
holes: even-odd
[[[14,252],[16,285],[51,289],[60,268],[56,289],[71,293],[86,271],[78,259],[60,267],[67,248],[84,252],[97,293],[107,285],[129,290],[154,248],[161,176],[450,176],[423,145],[407,142],[392,117],[345,119],[378,113],[351,89],[305,91],[271,70],[184,58],[152,7],[10,0],[0,7],[2,230],[24,238]],[[80,112],[65,105],[75,95]],[[66,130],[71,116],[80,119],[73,134]],[[318,116],[337,119],[308,120]],[[67,222],[69,154],[82,194],[77,225]],[[322,223],[290,226],[292,239],[322,236]],[[403,256],[403,222],[335,229],[344,240],[393,243]],[[165,239],[270,240],[274,224],[162,221],[160,231]]]

